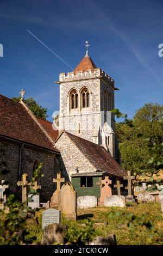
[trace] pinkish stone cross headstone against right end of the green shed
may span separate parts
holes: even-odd
[[[111,191],[111,180],[109,179],[108,176],[105,176],[104,180],[100,180],[100,182],[97,182],[96,185],[100,185],[101,186],[101,197],[99,199],[100,202],[104,202],[105,197],[109,197],[112,195],[112,191]]]

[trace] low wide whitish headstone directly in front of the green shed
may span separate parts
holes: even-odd
[[[97,197],[95,196],[83,196],[77,199],[77,208],[85,209],[97,206]]]

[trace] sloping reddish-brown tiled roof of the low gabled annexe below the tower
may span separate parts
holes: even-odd
[[[95,168],[102,172],[108,172],[109,174],[116,176],[126,176],[126,172],[122,170],[120,164],[118,164],[111,154],[106,149],[98,144],[87,141],[86,139],[72,135],[69,132],[65,132],[71,141],[76,144],[80,151],[87,157],[90,163]]]

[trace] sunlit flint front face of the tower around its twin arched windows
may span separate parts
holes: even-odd
[[[90,109],[85,111],[69,111],[69,98],[68,93],[72,88],[76,88],[78,91],[83,87],[90,89]],[[98,126],[99,118],[99,89],[98,80],[77,80],[60,84],[60,117],[59,117],[59,130],[66,130],[74,135],[83,137],[89,141],[92,141],[92,136]],[[70,124],[71,127],[66,127],[65,124]],[[78,124],[81,123],[81,132],[78,133]],[[61,124],[63,126],[61,126]],[[86,132],[87,131],[87,132]]]

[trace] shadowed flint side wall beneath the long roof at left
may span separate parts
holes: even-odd
[[[18,173],[19,166],[19,156],[20,148],[22,143],[9,141],[8,139],[2,139],[3,143],[3,156],[1,156],[1,161],[7,163],[9,173],[6,175],[1,175],[1,180],[5,179],[9,181],[9,188],[12,193],[17,193],[17,190],[20,191],[20,188],[17,187],[17,180],[22,179],[21,175],[27,173],[28,181],[32,179],[33,176],[33,166],[34,161],[37,159],[39,163],[43,163],[41,168],[41,173],[44,175],[42,178],[39,178],[38,184],[42,186],[41,201],[47,201],[52,196],[54,192],[55,184],[53,183],[53,178],[57,176],[57,162],[55,161],[55,154],[36,147],[30,147],[29,145],[24,144],[22,149],[22,159],[21,159],[21,174]],[[20,193],[19,193],[20,198]]]

